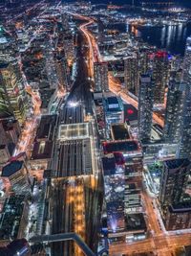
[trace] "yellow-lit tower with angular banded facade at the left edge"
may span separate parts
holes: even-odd
[[[27,114],[27,95],[16,61],[0,63],[1,109],[11,113],[22,124]]]

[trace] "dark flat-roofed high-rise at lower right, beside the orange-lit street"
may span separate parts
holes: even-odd
[[[190,167],[188,159],[164,161],[159,189],[159,203],[164,215],[170,205],[178,205],[183,200]]]

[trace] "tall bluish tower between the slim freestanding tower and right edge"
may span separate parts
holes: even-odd
[[[183,89],[180,81],[173,79],[169,82],[163,128],[163,139],[167,143],[180,141]]]

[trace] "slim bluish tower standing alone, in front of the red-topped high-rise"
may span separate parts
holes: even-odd
[[[138,136],[148,141],[151,136],[154,83],[150,75],[141,75],[138,92]]]

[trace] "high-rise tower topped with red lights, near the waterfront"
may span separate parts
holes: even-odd
[[[165,86],[168,85],[168,55],[157,52],[153,62],[153,80],[155,82],[154,103],[164,103]]]

